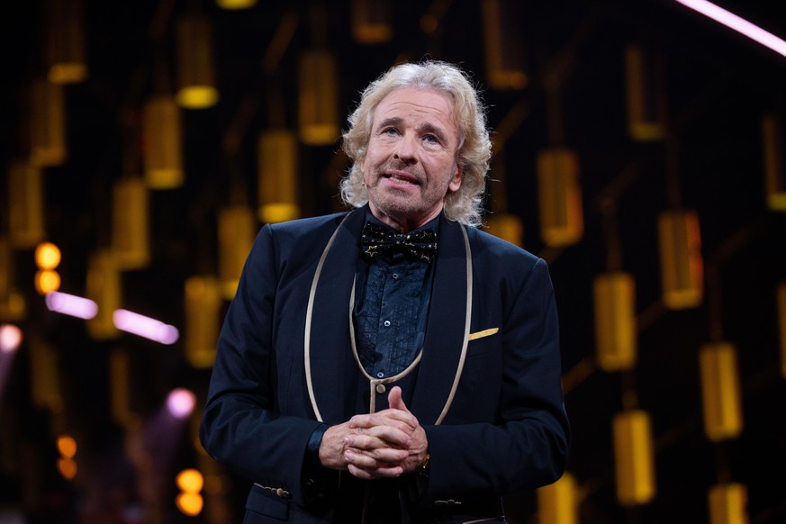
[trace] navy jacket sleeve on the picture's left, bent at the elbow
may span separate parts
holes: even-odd
[[[280,267],[266,225],[246,260],[219,335],[200,424],[215,460],[279,497],[304,504],[303,460],[317,420],[281,416],[272,343]]]

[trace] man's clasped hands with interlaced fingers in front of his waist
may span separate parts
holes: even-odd
[[[355,415],[322,436],[320,461],[357,478],[393,478],[415,471],[429,448],[426,432],[402,401],[402,389],[388,393],[390,408]]]

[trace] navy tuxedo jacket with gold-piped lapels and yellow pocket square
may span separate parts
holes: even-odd
[[[358,388],[375,411],[387,407],[393,384],[369,384],[350,349],[365,214],[267,224],[248,256],[200,430],[211,456],[255,483],[247,522],[330,521],[303,490],[312,431],[356,414]],[[404,398],[431,457],[410,501],[417,522],[434,511],[455,513],[450,521],[501,512],[501,495],[560,477],[569,441],[546,263],[443,217],[434,264],[425,344]]]

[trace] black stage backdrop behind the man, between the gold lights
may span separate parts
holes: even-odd
[[[18,326],[23,342],[0,359],[0,515],[8,519],[0,521],[241,519],[248,482],[212,464],[194,439],[210,369],[186,356],[184,288],[190,276],[220,270],[221,209],[256,209],[257,136],[276,123],[297,130],[297,63],[316,47],[335,59],[341,129],[359,91],[402,59],[460,63],[483,89],[496,130],[489,217],[518,221],[519,244],[547,260],[556,287],[577,521],[710,522],[708,493],[718,483],[745,485],[751,524],[786,521],[779,338],[786,312],[779,315],[776,300],[786,238],[782,212],[767,205],[762,132],[764,115],[786,125],[786,57],[673,1],[499,2],[512,28],[501,53],[520,51],[528,75],[526,86],[504,88],[489,77],[480,0],[371,4],[390,9],[387,41],[357,41],[348,0],[263,0],[241,11],[208,0],[86,0],[88,74],[63,87],[68,158],[41,167],[41,240],[59,246],[59,289],[69,294],[86,294],[90,257],[111,241],[113,185],[141,173],[143,104],[162,87],[176,88],[176,20],[201,9],[212,24],[220,99],[182,110],[185,183],[150,190],[149,264],[121,274],[122,307],[175,326],[181,338],[166,345],[126,332],[95,337],[86,321],[45,307],[32,246],[7,250],[14,272],[0,287],[0,323]],[[786,37],[783,2],[719,4]],[[7,189],[9,172],[29,154],[30,82],[45,73],[46,3],[3,9],[0,235],[7,237],[18,197]],[[660,60],[644,78],[664,104],[665,132],[656,140],[628,132],[624,52],[632,44]],[[563,246],[548,244],[538,215],[536,159],[554,145],[573,149],[580,162],[583,230]],[[781,137],[781,155],[784,148]],[[299,141],[297,158],[300,215],[340,210],[347,163],[338,135],[321,145]],[[699,217],[704,267],[701,302],[679,310],[663,301],[657,233],[658,214],[676,204]],[[257,219],[254,229],[261,225]],[[593,280],[614,268],[636,283],[637,360],[622,371],[599,366],[594,338]],[[24,299],[21,315],[9,312],[9,288]],[[715,442],[703,428],[699,354],[718,340],[736,348],[744,427]],[[113,355],[125,364],[120,375],[111,371]],[[177,387],[196,395],[197,411],[167,426],[159,410]],[[124,420],[113,414],[118,388],[128,395]],[[651,420],[655,494],[625,505],[615,492],[612,420],[633,408]],[[70,480],[57,467],[62,434],[78,445]],[[175,504],[176,473],[189,467],[206,480],[204,509],[194,517]],[[509,504],[512,522],[538,522],[535,492]]]

